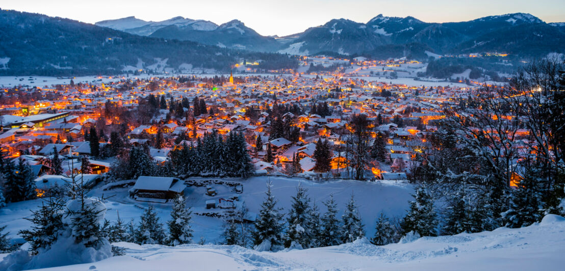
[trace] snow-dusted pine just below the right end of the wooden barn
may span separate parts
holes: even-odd
[[[167,222],[169,227],[168,241],[172,246],[192,243],[192,228],[190,228],[190,216],[192,212],[186,208],[186,202],[182,196],[175,199],[171,211],[171,220]]]

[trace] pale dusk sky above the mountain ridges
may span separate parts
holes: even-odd
[[[547,23],[565,21],[564,0],[2,0],[0,8],[86,23],[127,16],[152,21],[182,16],[216,24],[238,19],[259,34],[279,36],[302,32],[336,18],[366,23],[378,14],[442,23],[525,12]]]

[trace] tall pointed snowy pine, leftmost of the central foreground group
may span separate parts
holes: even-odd
[[[267,197],[261,204],[259,216],[253,231],[254,249],[259,251],[278,251],[283,248],[282,209],[276,207],[277,200],[271,191],[272,183],[267,182]]]

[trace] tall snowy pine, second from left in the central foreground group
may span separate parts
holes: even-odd
[[[288,230],[286,231],[285,247],[309,248],[311,238],[310,224],[310,198],[306,195],[307,189],[298,183],[296,195],[292,197],[292,206],[288,213]]]

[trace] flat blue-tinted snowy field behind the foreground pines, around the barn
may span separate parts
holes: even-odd
[[[302,178],[286,178],[286,177],[253,177],[247,180],[237,178],[190,178],[189,180],[225,180],[241,182],[244,192],[240,195],[240,202],[245,202],[250,212],[258,213],[260,204],[263,202],[265,191],[267,190],[267,180],[271,180],[273,187],[272,192],[276,199],[279,200],[278,207],[284,208],[284,213],[290,209],[290,197],[296,194],[296,186],[301,183],[303,187],[308,189],[308,195],[318,204],[321,212],[325,212],[325,206],[322,202],[329,198],[333,193],[341,217],[345,208],[345,203],[350,199],[351,193],[354,193],[355,199],[359,204],[359,213],[365,219],[365,230],[369,236],[375,233],[376,218],[380,212],[384,212],[389,217],[402,217],[408,209],[408,201],[412,200],[412,185],[395,182],[360,182],[360,181],[330,181],[330,182],[313,182]],[[223,212],[221,209],[206,209],[206,200],[215,200],[218,204],[220,198],[229,198],[234,195],[232,187],[225,185],[211,185],[216,189],[218,195],[207,196],[206,187],[188,186],[184,191],[186,205],[192,207],[193,212]],[[91,196],[111,196],[106,202],[108,208],[106,219],[115,221],[118,213],[121,219],[129,222],[132,218],[138,222],[143,208],[149,203],[136,202],[129,198],[128,190],[130,187],[118,188],[103,191],[101,185],[98,185],[89,195]],[[31,222],[24,219],[31,215],[29,210],[37,209],[41,204],[41,199],[28,200],[25,202],[10,203],[4,208],[0,208],[0,225],[7,225],[6,231],[10,231],[9,237],[20,238],[18,230],[27,229],[31,226]],[[171,217],[172,203],[151,203],[157,211],[160,221],[166,222]],[[221,218],[193,215],[194,241],[198,241],[200,237],[206,238],[207,242],[220,243],[223,239],[220,235],[223,231],[223,220]],[[23,242],[23,239],[21,239]]]

